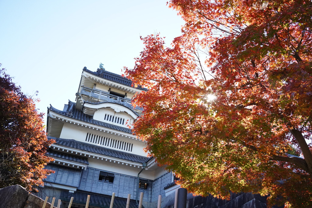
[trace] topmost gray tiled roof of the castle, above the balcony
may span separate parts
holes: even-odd
[[[121,75],[118,75],[118,74],[115,74],[115,73],[112,73],[112,72],[109,72],[109,71],[106,71],[106,70],[103,70],[103,69],[97,69],[96,72],[90,71],[87,68],[84,68],[83,70],[85,72],[88,72],[88,73],[90,73],[92,75],[95,75],[95,76],[98,76],[100,78],[103,78],[105,80],[110,80],[110,81],[113,81],[113,82],[116,82],[116,83],[119,83],[119,84],[122,84],[122,85],[133,87],[132,86],[132,81],[127,79],[126,77],[121,76]],[[143,88],[141,86],[138,86],[136,89],[147,91],[146,88]]]

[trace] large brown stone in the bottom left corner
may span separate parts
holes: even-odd
[[[1,208],[42,208],[44,201],[29,193],[20,185],[7,186],[0,189]],[[45,208],[50,208],[47,203]]]

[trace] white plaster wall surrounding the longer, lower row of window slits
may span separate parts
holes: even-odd
[[[97,143],[87,142],[87,141],[85,141],[87,133],[99,135],[102,137],[108,137],[108,138],[119,140],[122,142],[131,143],[131,144],[133,144],[132,152],[122,150],[122,149],[118,149],[118,148],[107,147],[107,146],[97,144]],[[95,129],[77,126],[76,124],[74,125],[71,123],[64,123],[60,138],[75,139],[76,141],[80,141],[80,142],[84,142],[84,143],[90,143],[90,144],[97,145],[100,147],[110,148],[110,149],[114,149],[117,151],[122,151],[122,152],[127,152],[127,153],[131,153],[131,154],[136,154],[136,155],[147,157],[147,153],[145,153],[143,150],[143,148],[145,148],[145,143],[142,141],[139,141],[136,139],[131,139],[131,138],[125,138],[122,136],[118,136],[118,135],[115,135],[112,133],[106,133],[106,132],[95,130]]]

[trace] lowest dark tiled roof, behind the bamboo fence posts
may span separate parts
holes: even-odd
[[[90,206],[97,207],[110,207],[111,196],[94,194],[90,192],[82,192],[76,191],[75,193],[70,193],[68,191],[61,191],[60,199],[62,201],[70,201],[71,197],[74,197],[73,203],[81,204],[85,206],[85,202],[87,201],[87,196],[90,195]],[[114,198],[114,207],[126,207],[127,199],[122,199],[115,197]],[[129,208],[137,208],[134,200],[130,200]]]

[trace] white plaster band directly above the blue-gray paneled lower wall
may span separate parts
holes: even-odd
[[[114,162],[109,162],[105,160],[99,160],[96,158],[88,158],[89,165],[88,167],[93,167],[97,169],[101,169],[104,171],[121,173],[129,176],[138,177],[138,173],[142,170],[142,168],[133,167],[129,165],[122,165]],[[161,168],[160,168],[161,169]],[[143,170],[140,173],[140,178],[146,178],[150,180],[154,180],[154,171]]]

